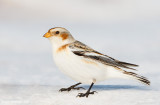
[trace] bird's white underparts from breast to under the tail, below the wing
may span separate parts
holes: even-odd
[[[114,67],[73,54],[69,48],[59,53],[54,52],[53,55],[59,69],[77,82],[91,84],[94,81],[99,82],[108,78],[124,76]]]

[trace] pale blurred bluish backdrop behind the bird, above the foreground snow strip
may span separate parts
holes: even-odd
[[[139,64],[137,73],[160,86],[159,0],[1,0],[0,84],[75,83],[56,68],[42,37],[57,26],[104,54]]]

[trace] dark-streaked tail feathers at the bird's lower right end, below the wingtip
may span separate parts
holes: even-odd
[[[150,81],[146,77],[140,76],[133,72],[127,72],[127,71],[124,71],[124,74],[127,74],[128,76],[132,76],[133,78],[135,78],[136,80],[140,81],[145,85],[150,85]]]

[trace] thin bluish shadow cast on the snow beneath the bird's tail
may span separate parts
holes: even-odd
[[[89,88],[89,85],[83,85],[85,89]],[[146,86],[132,86],[132,85],[94,85],[94,90],[150,90]]]

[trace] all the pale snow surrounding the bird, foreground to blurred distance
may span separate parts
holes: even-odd
[[[24,1],[0,1],[0,105],[160,105],[159,1]],[[58,92],[75,81],[57,69],[42,37],[55,26],[104,54],[139,64],[135,72],[151,86],[111,79],[95,84],[98,93],[89,98],[76,98],[86,90]]]

